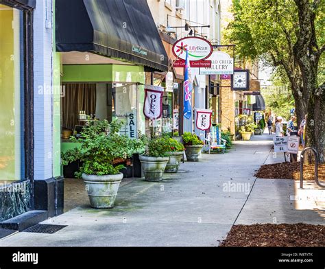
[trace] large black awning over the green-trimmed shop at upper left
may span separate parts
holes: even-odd
[[[56,49],[89,51],[168,69],[146,0],[56,0]]]

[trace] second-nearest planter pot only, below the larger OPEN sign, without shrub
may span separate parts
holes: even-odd
[[[163,172],[165,171],[169,157],[152,157],[139,155],[143,174],[147,181],[163,180]]]

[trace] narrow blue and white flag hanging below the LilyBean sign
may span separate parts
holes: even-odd
[[[184,117],[191,119],[192,115],[192,78],[189,62],[189,51],[186,50],[185,72],[184,72]]]

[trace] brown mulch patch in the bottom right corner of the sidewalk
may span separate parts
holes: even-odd
[[[325,246],[325,226],[312,224],[234,225],[220,246]]]

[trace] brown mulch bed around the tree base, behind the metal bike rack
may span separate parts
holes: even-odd
[[[300,180],[300,162],[273,163],[262,165],[255,176],[257,178],[283,178]],[[304,165],[304,180],[314,180],[314,165]],[[318,180],[325,180],[325,164],[318,165]]]

